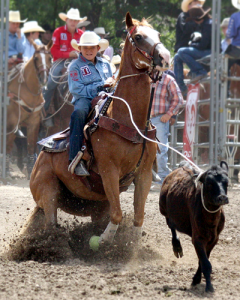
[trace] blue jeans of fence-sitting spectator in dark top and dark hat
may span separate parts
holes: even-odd
[[[205,75],[207,71],[196,60],[211,53],[211,50],[198,50],[194,47],[180,48],[174,56],[174,73],[176,81],[182,92],[187,90],[187,87],[183,81],[183,64],[187,64],[191,72],[196,76]]]

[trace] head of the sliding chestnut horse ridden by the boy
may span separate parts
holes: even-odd
[[[127,39],[133,45],[132,60],[137,69],[151,69],[153,66],[164,67],[170,63],[170,52],[160,42],[160,34],[146,19],[137,21],[130,13],[126,14],[128,29]]]

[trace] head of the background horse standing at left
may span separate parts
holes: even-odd
[[[33,54],[34,66],[37,71],[38,80],[41,85],[46,85],[48,80],[49,70],[52,65],[52,55],[50,49],[52,47],[52,41],[47,46],[39,46],[34,41],[32,44],[35,48]]]

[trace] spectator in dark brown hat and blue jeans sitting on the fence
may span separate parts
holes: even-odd
[[[211,8],[204,11],[201,7],[192,7],[189,10],[189,18],[186,22],[194,21],[199,25],[199,32],[192,34],[189,47],[180,48],[174,57],[174,73],[176,81],[184,97],[187,95],[187,87],[183,81],[183,64],[190,68],[192,80],[198,81],[207,75],[207,71],[196,60],[211,53],[212,19],[208,14]]]

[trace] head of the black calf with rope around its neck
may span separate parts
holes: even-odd
[[[202,174],[199,181],[203,184],[204,199],[210,205],[228,204],[228,165],[225,161],[220,166],[212,166]]]

